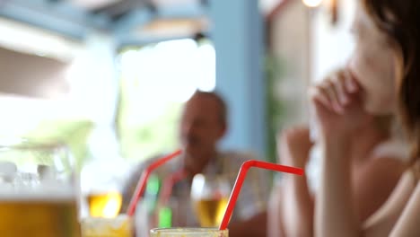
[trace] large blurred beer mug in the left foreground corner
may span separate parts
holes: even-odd
[[[66,145],[1,139],[1,235],[80,237],[76,180]]]

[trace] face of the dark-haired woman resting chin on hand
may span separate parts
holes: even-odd
[[[363,107],[373,115],[392,113],[397,108],[396,53],[360,4],[352,30],[356,44],[349,69],[363,89]]]

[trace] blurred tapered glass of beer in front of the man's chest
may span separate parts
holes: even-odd
[[[222,222],[230,194],[230,184],[222,176],[194,176],[191,200],[201,227],[215,227]]]

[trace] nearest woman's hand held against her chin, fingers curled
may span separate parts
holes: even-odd
[[[350,137],[372,121],[363,110],[362,88],[347,70],[329,75],[310,89],[321,138]]]

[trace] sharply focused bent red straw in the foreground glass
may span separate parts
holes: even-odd
[[[226,230],[229,224],[229,221],[231,220],[233,208],[236,205],[236,199],[238,199],[238,196],[241,192],[243,181],[245,180],[245,177],[247,176],[247,172],[249,168],[251,167],[257,167],[260,169],[265,169],[265,170],[270,170],[270,171],[281,171],[281,172],[293,173],[297,175],[303,175],[303,172],[304,172],[300,168],[284,166],[284,165],[271,163],[271,162],[261,162],[261,161],[255,161],[255,160],[243,162],[241,165],[241,170],[239,171],[238,177],[236,178],[235,185],[233,186],[231,198],[229,198],[228,205],[226,206],[226,210],[224,211],[222,224],[220,224],[219,230]]]

